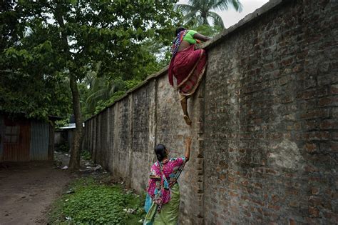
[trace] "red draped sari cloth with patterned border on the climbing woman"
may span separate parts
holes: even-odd
[[[184,96],[195,93],[202,80],[207,65],[204,49],[196,49],[195,44],[183,51],[178,51],[169,66],[169,83],[173,86],[173,76],[177,79],[178,91]]]

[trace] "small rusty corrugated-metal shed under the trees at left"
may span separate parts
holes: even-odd
[[[52,122],[0,112],[0,161],[53,160],[53,121],[57,118],[49,119]]]

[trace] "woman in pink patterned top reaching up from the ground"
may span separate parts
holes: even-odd
[[[163,144],[155,146],[158,161],[151,166],[148,194],[145,199],[147,215],[143,224],[178,224],[180,208],[180,188],[178,177],[190,157],[191,139],[185,139],[184,157],[170,158]]]

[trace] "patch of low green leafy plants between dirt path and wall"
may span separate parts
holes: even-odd
[[[67,192],[54,202],[48,224],[138,224],[145,216],[143,198],[119,185],[87,177],[73,181]]]

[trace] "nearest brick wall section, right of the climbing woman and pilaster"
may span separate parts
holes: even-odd
[[[206,221],[337,222],[337,6],[290,1],[210,49]]]

